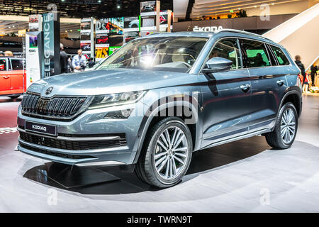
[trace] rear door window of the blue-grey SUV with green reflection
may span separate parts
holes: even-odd
[[[264,43],[254,40],[242,40],[249,67],[270,66],[269,56]]]

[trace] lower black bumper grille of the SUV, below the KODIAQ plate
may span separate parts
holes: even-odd
[[[122,134],[121,134],[122,135]],[[94,135],[92,135],[94,136]],[[119,137],[113,140],[61,140],[54,137],[47,137],[43,135],[35,135],[26,132],[20,132],[21,140],[35,145],[43,145],[50,148],[58,148],[63,150],[91,150],[103,148],[118,148],[126,145],[126,138]]]

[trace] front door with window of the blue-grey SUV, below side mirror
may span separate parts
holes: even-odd
[[[201,147],[247,133],[250,116],[250,76],[242,67],[237,38],[219,40],[208,57],[224,57],[233,61],[228,72],[212,77],[200,74],[202,82],[203,140]]]

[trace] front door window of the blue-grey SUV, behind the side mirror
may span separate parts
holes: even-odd
[[[220,40],[211,51],[209,59],[212,57],[224,57],[231,60],[233,62],[232,70],[240,69],[242,67],[237,39],[230,38]]]

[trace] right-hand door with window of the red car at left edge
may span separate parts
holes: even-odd
[[[23,60],[11,58],[11,92],[23,93]]]

